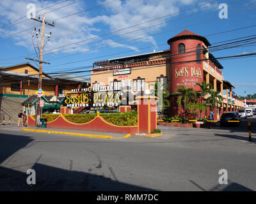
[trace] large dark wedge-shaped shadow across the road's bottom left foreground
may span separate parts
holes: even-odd
[[[156,191],[125,184],[104,175],[63,170],[36,163],[36,184],[28,185],[29,175],[0,166],[0,191]]]

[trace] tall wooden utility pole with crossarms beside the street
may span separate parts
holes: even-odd
[[[31,19],[32,20],[36,20],[38,22],[41,22],[42,23],[42,37],[41,37],[41,45],[40,45],[40,57],[39,57],[39,60],[36,60],[36,59],[31,59],[31,58],[28,58],[26,57],[26,59],[29,59],[29,60],[32,60],[32,61],[36,61],[36,62],[39,62],[39,77],[38,77],[38,89],[42,89],[42,73],[43,73],[43,63],[45,64],[50,64],[49,62],[44,62],[43,61],[43,52],[44,52],[44,27],[45,27],[45,24],[47,25],[51,25],[52,27],[54,27],[54,22],[52,22],[52,24],[50,24],[49,22],[45,22],[45,15],[46,13],[44,12],[44,15],[43,15],[43,20],[40,20],[40,17],[37,19],[37,18],[33,18],[32,15],[31,15]],[[39,31],[39,34],[40,34],[40,31]],[[49,37],[49,35],[47,35]],[[49,40],[49,39],[48,39]],[[40,128],[40,117],[41,117],[41,111],[40,111],[40,97],[38,96],[38,100],[36,102],[36,127],[37,128]]]

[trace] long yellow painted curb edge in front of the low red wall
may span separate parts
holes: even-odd
[[[39,133],[53,133],[53,134],[62,134],[62,135],[75,135],[75,136],[88,136],[90,138],[106,138],[106,139],[122,139],[128,138],[131,134],[127,134],[121,138],[114,138],[113,136],[109,135],[91,135],[91,134],[83,134],[83,133],[68,133],[68,132],[60,132],[60,131],[49,131],[43,129],[26,129],[22,128],[23,131],[30,131],[30,132],[39,132]]]

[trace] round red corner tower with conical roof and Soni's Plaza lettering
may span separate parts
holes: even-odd
[[[199,91],[195,83],[204,81],[203,59],[207,59],[209,41],[188,30],[182,31],[168,41],[170,45],[170,92],[185,85]],[[204,52],[204,55],[203,55]],[[207,58],[205,58],[207,57]]]

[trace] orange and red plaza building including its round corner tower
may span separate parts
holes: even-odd
[[[232,99],[235,87],[224,79],[223,66],[209,53],[211,44],[204,36],[185,30],[170,38],[168,45],[168,50],[94,62],[92,87],[108,86],[113,91],[125,90],[136,96],[152,90],[156,81],[163,82],[167,84],[172,102],[168,114],[179,115],[182,108],[172,99],[177,87],[185,85],[199,91],[200,87],[195,83],[205,81],[224,98],[220,107],[214,109],[216,119],[222,112],[244,108],[242,101]],[[132,103],[130,101],[129,105]]]

